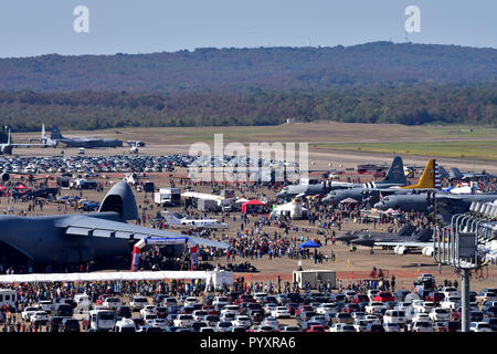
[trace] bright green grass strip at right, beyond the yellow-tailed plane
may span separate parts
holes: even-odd
[[[309,148],[497,160],[497,140],[310,144]]]

